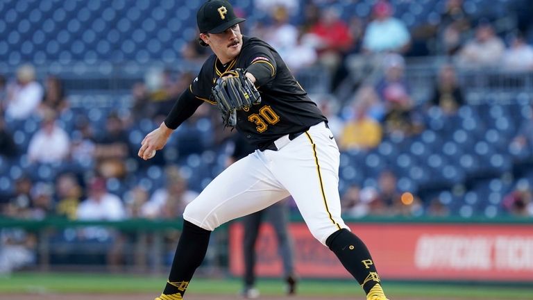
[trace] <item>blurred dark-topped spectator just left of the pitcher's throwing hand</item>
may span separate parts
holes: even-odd
[[[105,132],[96,138],[94,158],[96,170],[105,178],[122,178],[126,175],[124,160],[130,154],[128,133],[117,113],[110,113],[105,122]]]

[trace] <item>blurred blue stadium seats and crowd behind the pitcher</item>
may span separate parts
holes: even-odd
[[[208,104],[137,158],[210,55],[196,42],[202,1],[156,2],[0,0],[1,216],[176,219],[226,167],[240,141]],[[533,216],[530,1],[232,4],[328,117],[346,217]],[[111,241],[113,261],[111,235],[55,238]]]

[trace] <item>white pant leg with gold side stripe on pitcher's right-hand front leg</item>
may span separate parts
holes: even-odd
[[[271,168],[274,175],[294,198],[317,240],[325,245],[332,233],[348,228],[341,219],[339,150],[327,133],[307,131],[271,155],[277,159]]]

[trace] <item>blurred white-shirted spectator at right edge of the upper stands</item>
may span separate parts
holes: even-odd
[[[515,35],[502,57],[504,69],[510,71],[533,70],[533,47],[521,35]]]

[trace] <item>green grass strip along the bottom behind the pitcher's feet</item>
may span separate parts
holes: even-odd
[[[110,274],[56,274],[24,273],[0,277],[0,294],[59,292],[59,293],[154,293],[162,290],[166,278],[161,276],[130,276]],[[280,280],[260,279],[257,288],[262,294],[282,294]],[[195,278],[189,293],[236,294],[241,288],[238,278]],[[533,288],[525,286],[493,286],[436,283],[389,282],[384,288],[391,299],[395,297],[452,298],[452,299],[533,299]],[[298,288],[303,295],[328,295],[339,297],[362,295],[354,281],[303,280]]]

